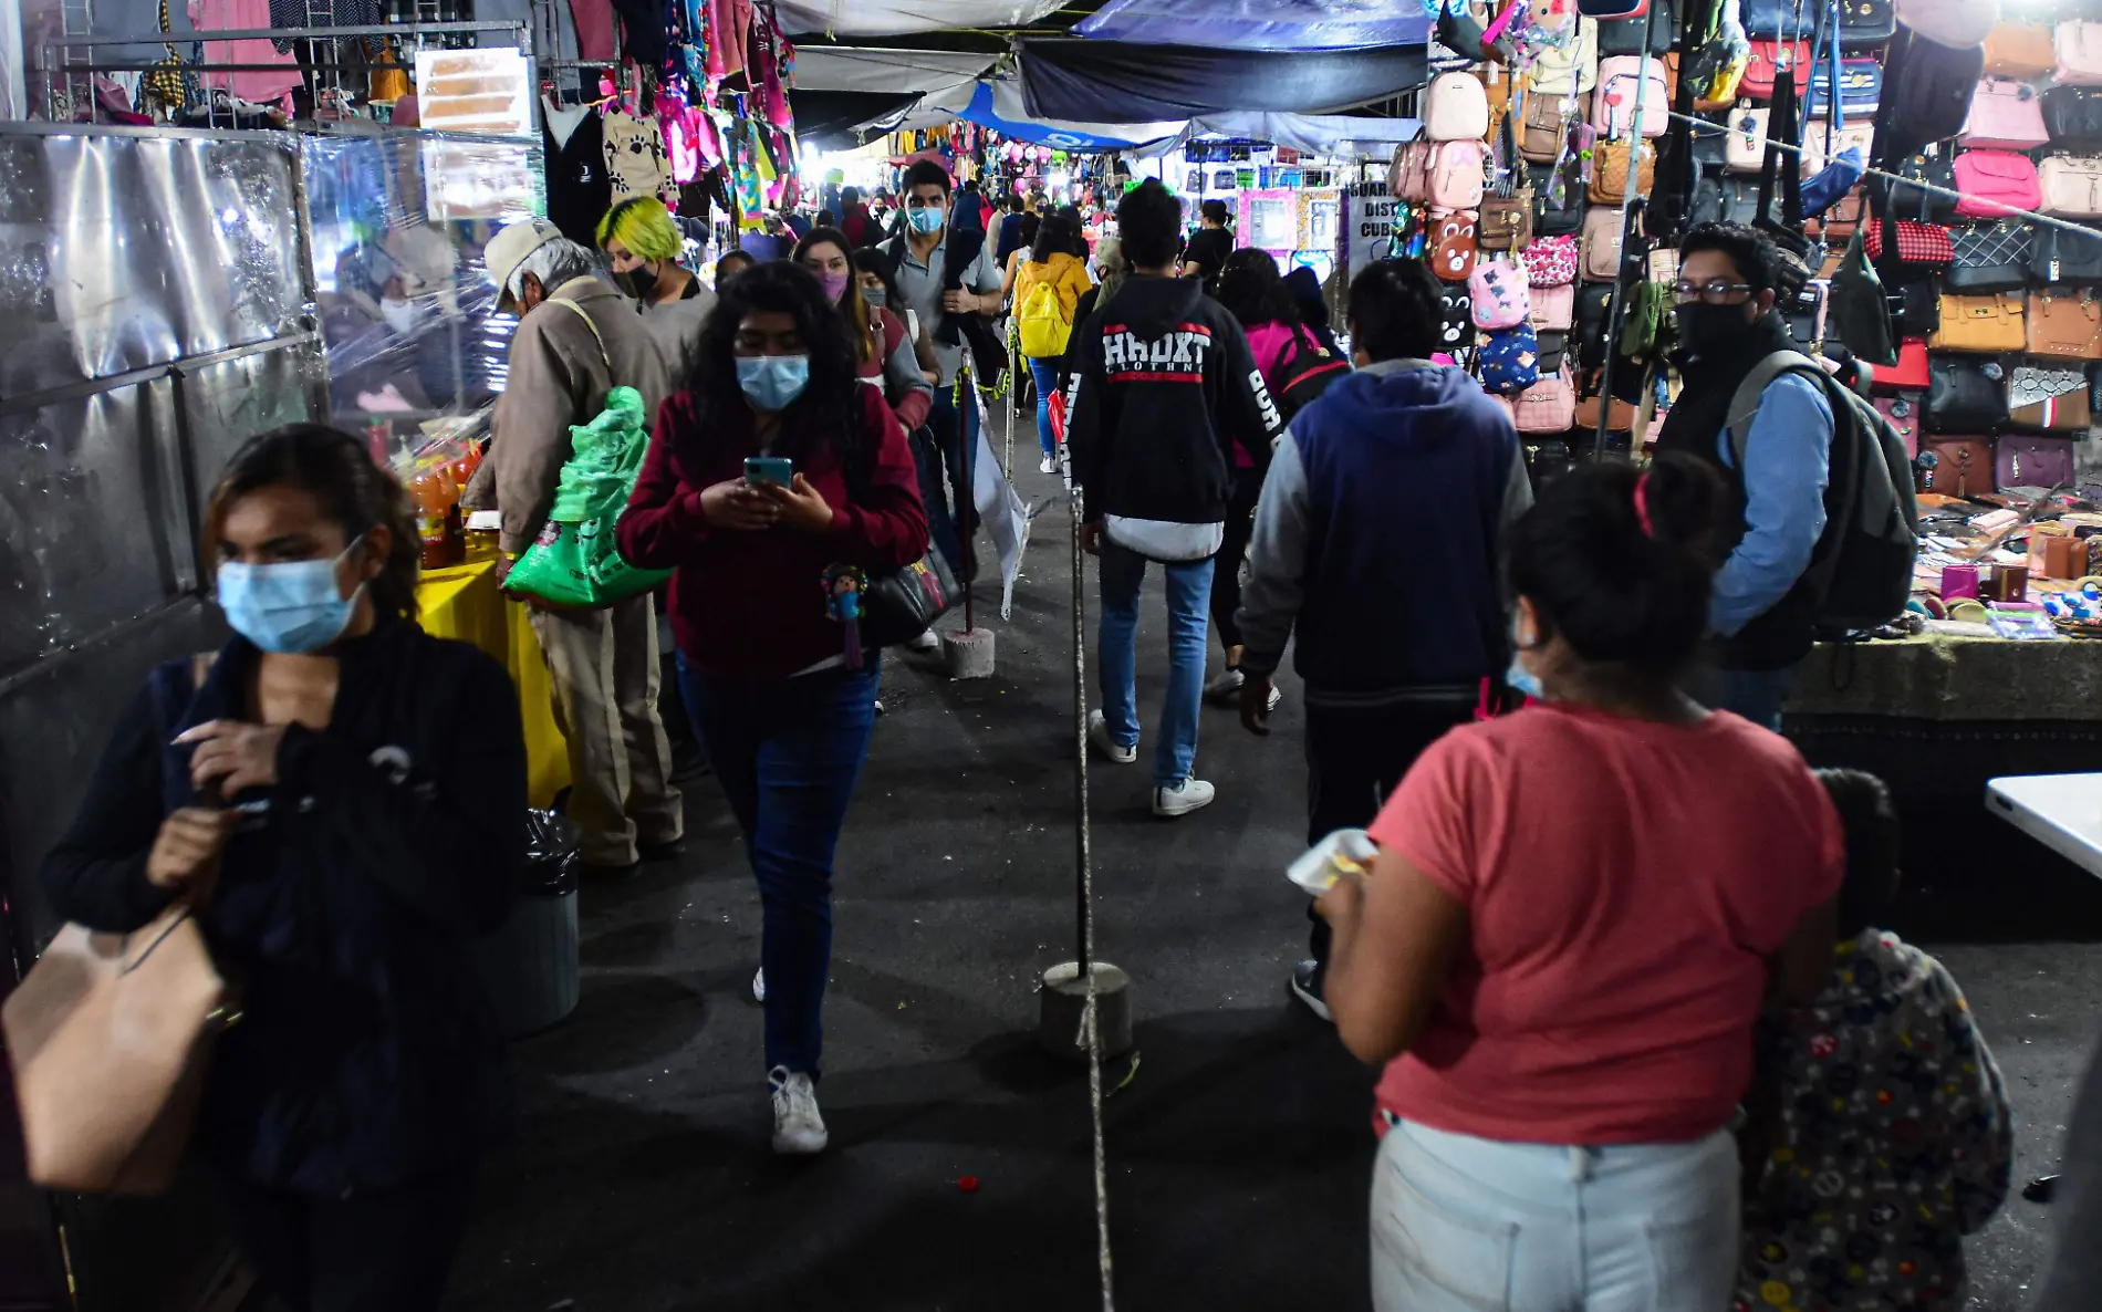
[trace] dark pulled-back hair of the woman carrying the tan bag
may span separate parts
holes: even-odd
[[[204,511],[204,559],[219,561],[219,536],[233,503],[263,488],[296,488],[343,528],[343,540],[387,526],[393,534],[387,563],[368,585],[380,614],[416,618],[416,576],[423,547],[408,494],[391,473],[372,463],[366,444],[343,429],[294,423],[256,433],[227,460]]]

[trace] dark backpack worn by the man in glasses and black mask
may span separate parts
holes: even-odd
[[[1833,410],[1831,488],[1825,536],[1804,578],[1816,595],[1822,631],[1875,629],[1904,614],[1919,551],[1919,498],[1904,437],[1860,393],[1841,387],[1814,360],[1776,351],[1730,397],[1730,452],[1745,467],[1745,439],[1759,393],[1780,374],[1801,374]]]

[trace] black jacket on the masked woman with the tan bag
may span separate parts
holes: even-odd
[[[166,906],[147,852],[174,805],[195,805],[191,749],[170,738],[242,719],[254,662],[254,645],[229,641],[172,725],[151,681],[132,698],[44,862],[61,917],[126,931]],[[511,677],[467,643],[383,620],[345,645],[328,730],[290,725],[277,784],[233,803],[252,818],[198,923],[244,1018],[212,1060],[206,1150],[242,1180],[326,1196],[473,1161],[513,1112],[469,965],[526,862]]]

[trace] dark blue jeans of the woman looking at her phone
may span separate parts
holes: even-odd
[[[748,683],[679,662],[679,690],[759,879],[767,971],[767,1070],[818,1077],[832,967],[832,849],[868,759],[879,658],[858,671]]]

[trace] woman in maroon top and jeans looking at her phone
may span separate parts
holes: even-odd
[[[746,484],[748,456],[792,477]],[[832,847],[868,755],[877,652],[826,612],[828,572],[927,549],[906,433],[856,381],[847,324],[809,271],[755,265],[708,313],[658,412],[620,553],[677,568],[679,688],[744,831],[765,910],[761,967],[774,1150],[818,1152],[818,1051],[832,957]]]

